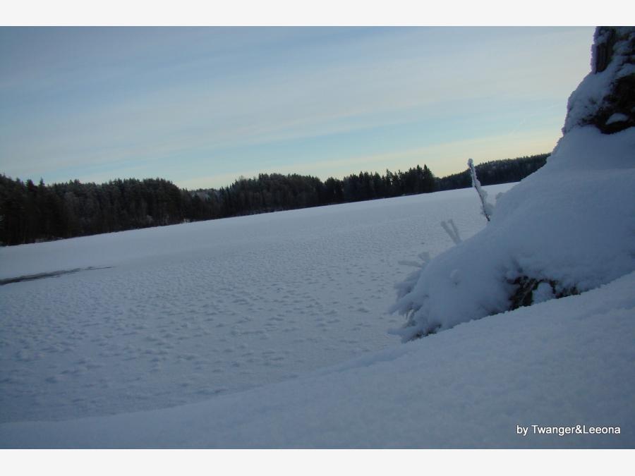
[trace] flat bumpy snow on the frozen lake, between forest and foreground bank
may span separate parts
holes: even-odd
[[[1,248],[0,280],[103,269],[0,286],[0,422],[174,407],[399,349],[398,262],[452,246],[450,218],[463,238],[485,226],[474,190]]]

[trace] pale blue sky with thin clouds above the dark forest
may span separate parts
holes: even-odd
[[[550,152],[593,28],[0,28],[0,173],[437,176]]]

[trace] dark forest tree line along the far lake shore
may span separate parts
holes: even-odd
[[[545,164],[548,154],[476,166],[483,185],[519,181]],[[466,170],[436,178],[428,166],[385,174],[360,172],[321,181],[296,173],[261,173],[227,187],[185,190],[162,178],[35,185],[0,174],[0,245],[72,238],[97,233],[180,224],[430,193],[471,186]]]

